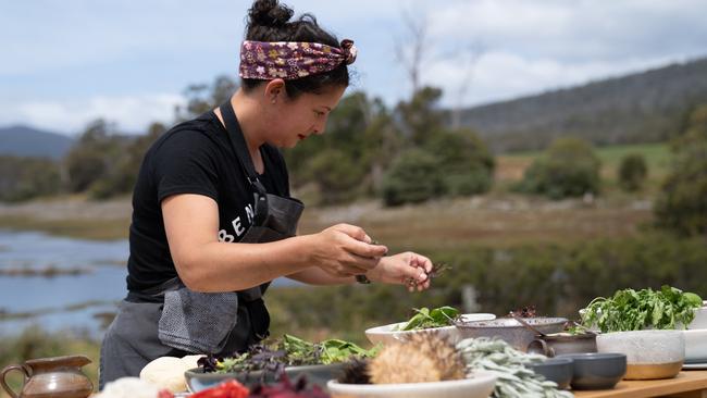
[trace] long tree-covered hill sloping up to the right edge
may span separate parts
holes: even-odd
[[[543,149],[573,135],[596,145],[654,142],[707,103],[707,58],[464,110],[460,122],[497,152]]]

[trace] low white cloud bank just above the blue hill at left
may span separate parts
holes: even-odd
[[[30,124],[51,132],[78,134],[86,125],[104,119],[125,133],[145,133],[152,122],[172,123],[174,108],[184,105],[182,96],[147,94],[97,96],[86,100],[8,102],[0,109],[0,125]]]

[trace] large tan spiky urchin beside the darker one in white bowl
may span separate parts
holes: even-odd
[[[413,334],[386,346],[369,363],[373,384],[426,383],[464,378],[455,346],[430,333]]]

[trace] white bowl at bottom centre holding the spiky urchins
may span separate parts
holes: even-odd
[[[474,372],[471,378],[406,384],[326,384],[332,396],[370,398],[487,398],[496,386],[493,372]]]

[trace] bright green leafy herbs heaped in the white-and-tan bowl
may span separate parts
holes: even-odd
[[[660,290],[623,289],[612,297],[592,300],[582,311],[582,323],[587,327],[596,325],[603,333],[671,329],[679,324],[686,327],[695,318],[694,309],[699,307],[699,296],[667,285]]]

